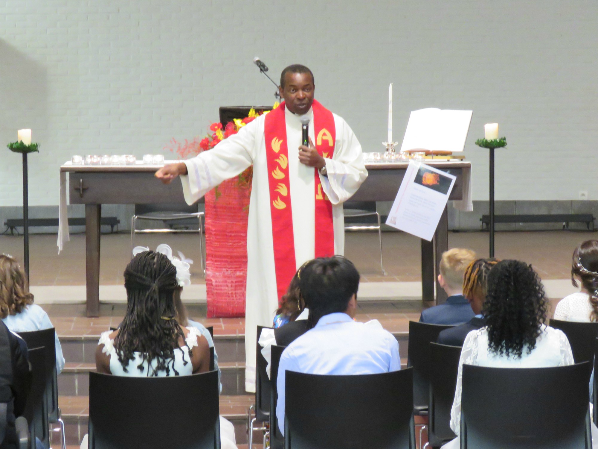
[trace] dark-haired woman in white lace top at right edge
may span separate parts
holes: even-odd
[[[571,282],[581,283],[577,293],[559,301],[554,319],[563,321],[598,321],[598,240],[586,240],[573,251]]]

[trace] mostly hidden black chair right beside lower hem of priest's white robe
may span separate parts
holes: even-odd
[[[266,372],[268,364],[261,354],[261,346],[258,343],[262,329],[271,329],[271,327],[258,326],[257,328],[257,339],[255,340],[255,404],[251,405],[247,412],[247,441],[250,448],[254,442],[254,430],[264,432],[264,439],[269,430],[266,423],[269,423],[270,420],[270,394],[272,385]],[[251,417],[252,410],[255,411],[254,418]],[[259,423],[261,426],[255,427],[255,423]]]

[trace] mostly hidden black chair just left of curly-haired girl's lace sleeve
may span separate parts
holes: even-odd
[[[428,442],[434,448],[456,437],[449,424],[460,357],[460,346],[430,344],[430,363],[434,369],[430,371]]]

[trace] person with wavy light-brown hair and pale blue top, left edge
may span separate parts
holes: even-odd
[[[31,332],[32,330],[51,329],[54,327],[45,310],[33,304],[33,295],[29,292],[29,283],[19,262],[8,254],[0,254],[0,318],[13,332]],[[56,372],[60,374],[65,367],[65,357],[58,335],[56,339]]]

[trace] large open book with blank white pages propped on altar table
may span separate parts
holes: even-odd
[[[438,108],[411,111],[401,151],[463,151],[472,113]]]

